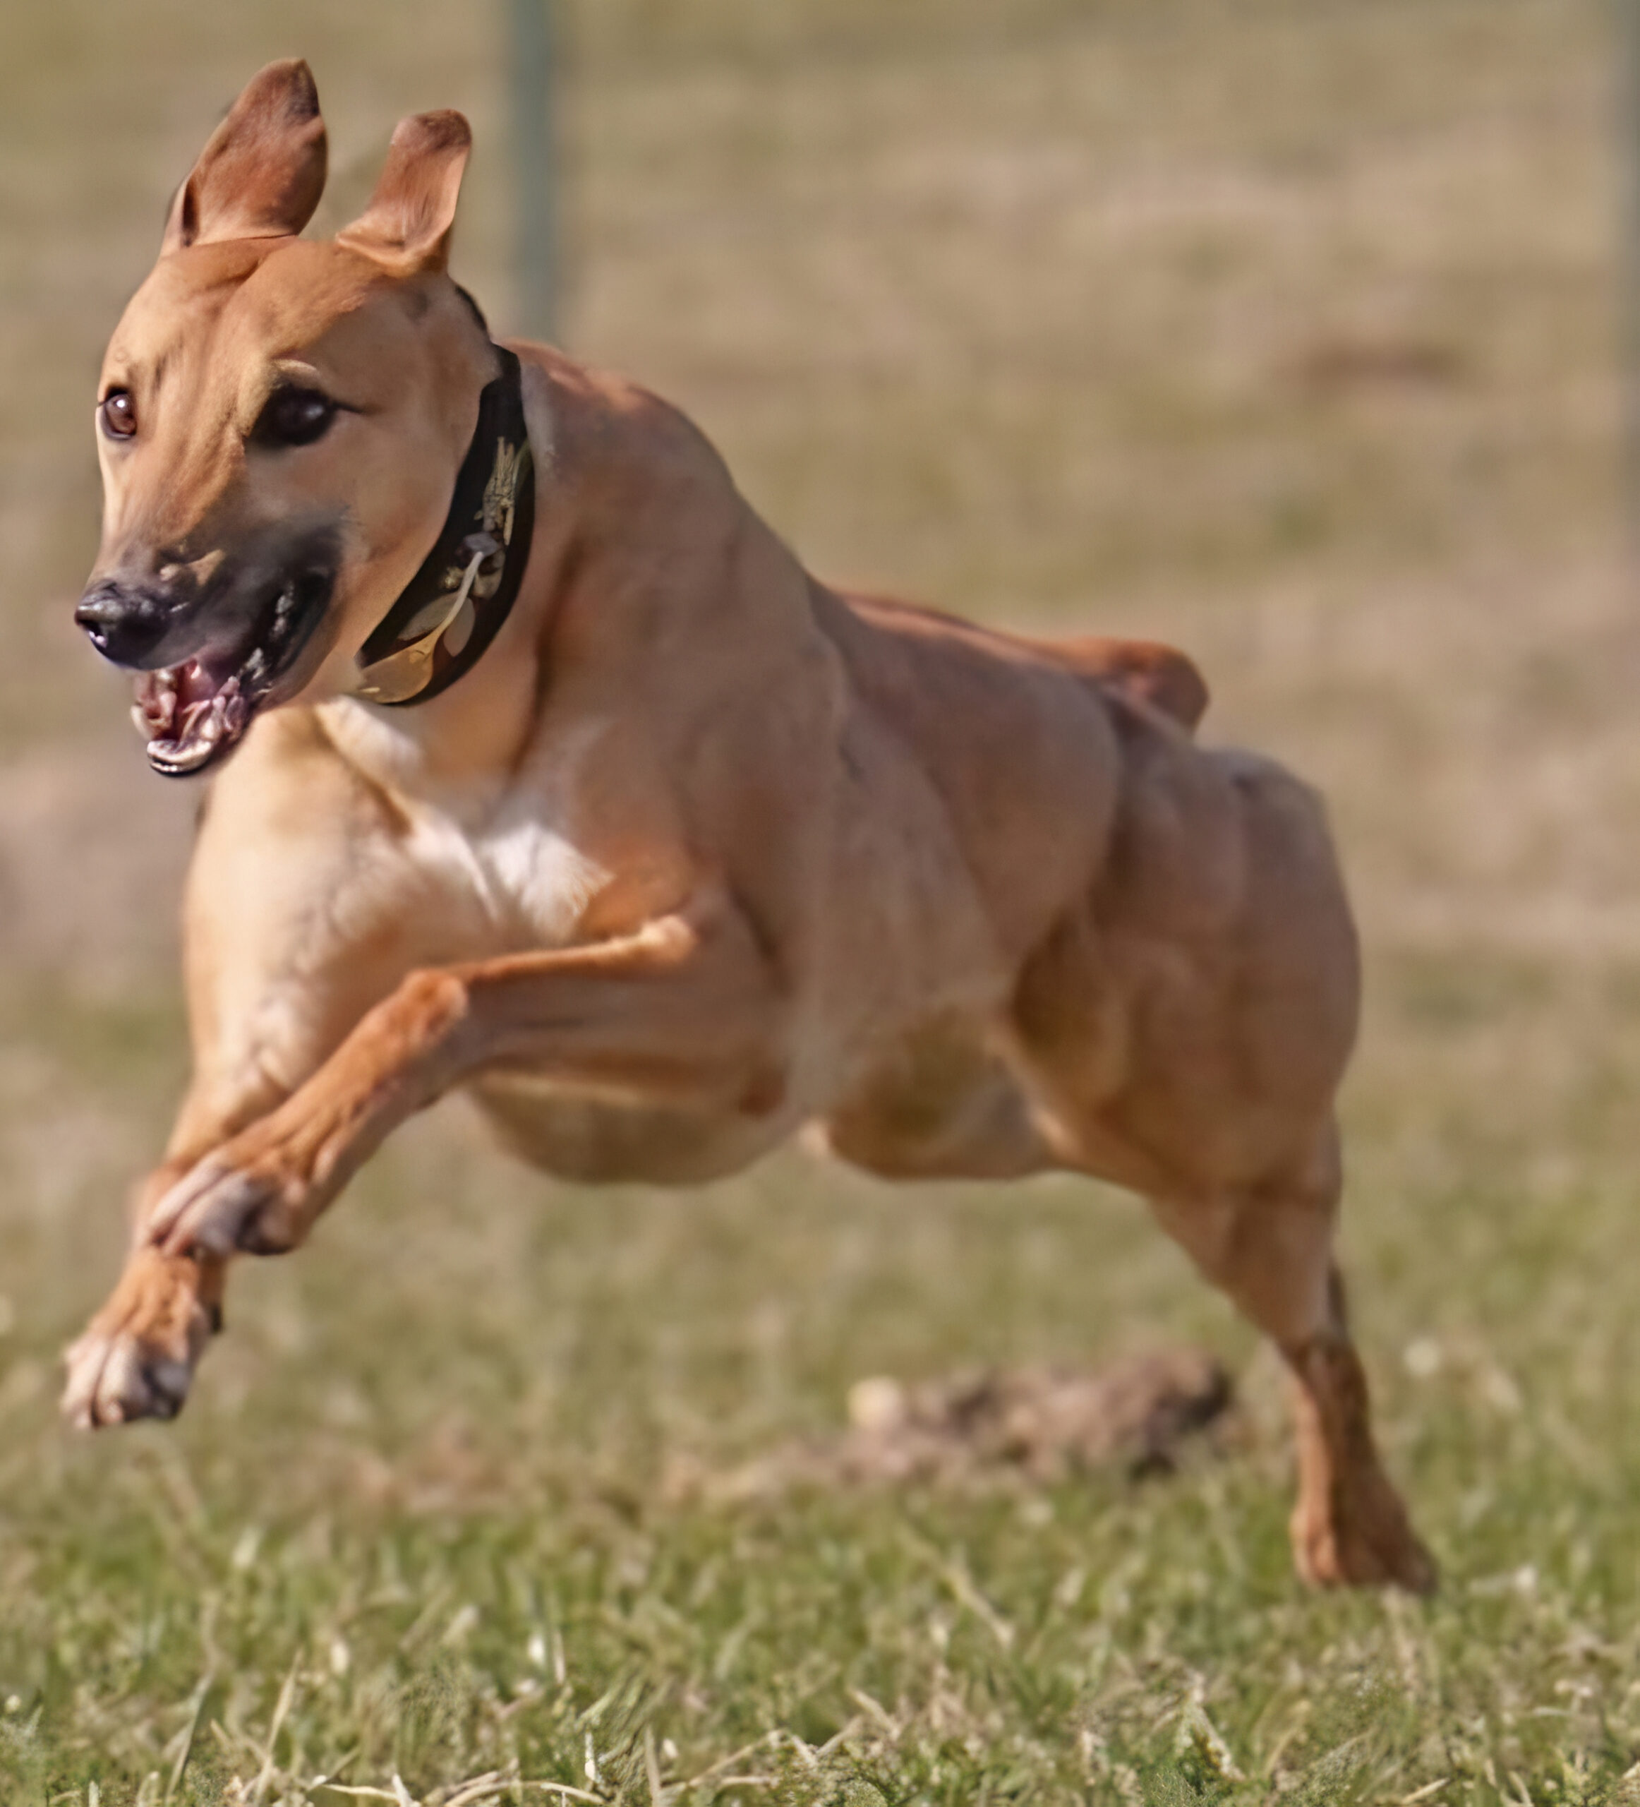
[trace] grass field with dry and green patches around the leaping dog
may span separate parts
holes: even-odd
[[[101,342],[267,56],[336,224],[479,132],[488,11],[0,13],[0,1800],[1640,1800],[1640,629],[1595,0],[585,0],[565,338],[822,575],[1169,636],[1329,795],[1346,1258],[1423,1605],[1291,1579],[1277,1373],[1141,1209],[782,1156],[686,1194],[412,1126],[249,1269],[175,1426],[54,1417],[184,1072],[193,799],[69,623]],[[690,1503],[862,1375],[1190,1337],[1232,1455]],[[1631,1780],[1624,1782],[1624,1776]],[[527,1784],[527,1785],[526,1785]],[[540,1784],[558,1784],[560,1793]],[[569,1793],[578,1791],[578,1793]],[[363,1796],[370,1798],[370,1796]]]

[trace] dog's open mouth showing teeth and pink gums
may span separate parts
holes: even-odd
[[[336,573],[307,569],[287,578],[226,645],[137,678],[132,721],[148,743],[148,764],[163,777],[204,772],[231,752],[251,717],[289,676],[312,638]]]

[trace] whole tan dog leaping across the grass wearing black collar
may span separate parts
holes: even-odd
[[[827,589],[670,407],[491,342],[468,143],[405,119],[302,239],[325,128],[264,69],[108,345],[76,620],[152,766],[217,777],[195,1075],[70,1417],[175,1413],[231,1258],[462,1088],[576,1180],[804,1131],[1131,1187],[1291,1370],[1300,1572],[1430,1587],[1331,1256],[1358,970],[1315,797],[1197,748],[1183,656]]]

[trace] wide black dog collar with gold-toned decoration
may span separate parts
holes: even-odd
[[[518,360],[495,347],[500,376],[479,396],[473,443],[450,513],[421,569],[359,647],[354,696],[426,703],[470,672],[513,609],[535,529],[535,461]]]

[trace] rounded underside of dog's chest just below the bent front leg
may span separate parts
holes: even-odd
[[[793,1128],[784,1113],[589,1099],[527,1073],[488,1075],[466,1091],[511,1153],[587,1184],[699,1185],[739,1173]]]

